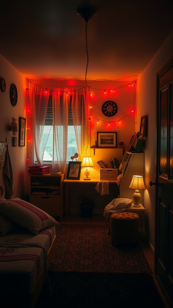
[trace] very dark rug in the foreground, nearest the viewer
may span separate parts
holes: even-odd
[[[151,274],[48,272],[34,308],[164,308]]]

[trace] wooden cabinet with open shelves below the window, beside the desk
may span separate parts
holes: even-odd
[[[30,203],[52,216],[62,216],[64,174],[30,174]]]

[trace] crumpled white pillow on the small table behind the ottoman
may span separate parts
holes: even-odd
[[[104,210],[103,216],[108,219],[112,213],[124,212],[127,207],[131,206],[132,199],[116,198],[113,199]]]

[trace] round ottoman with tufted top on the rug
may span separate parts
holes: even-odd
[[[113,213],[110,217],[111,242],[133,244],[139,240],[139,215],[131,212]]]

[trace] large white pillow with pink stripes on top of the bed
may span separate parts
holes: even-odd
[[[20,198],[0,202],[0,213],[34,234],[52,225],[59,225],[46,212]]]

